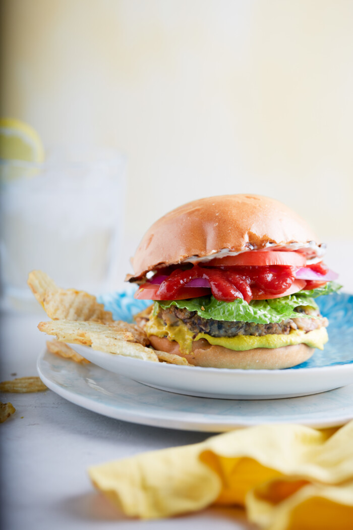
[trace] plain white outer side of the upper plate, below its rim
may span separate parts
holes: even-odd
[[[221,399],[293,398],[353,383],[353,364],[288,370],[234,370],[151,363],[107,354],[88,346],[75,350],[92,363],[161,390]]]

